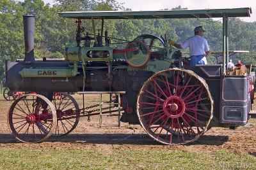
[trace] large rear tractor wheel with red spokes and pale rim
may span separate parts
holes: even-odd
[[[212,120],[213,101],[207,83],[184,69],[167,69],[150,77],[140,90],[140,124],[166,145],[196,141]]]

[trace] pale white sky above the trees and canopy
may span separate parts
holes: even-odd
[[[52,4],[53,0],[44,0],[45,3]],[[153,11],[165,8],[175,8],[181,6],[189,10],[216,9],[216,8],[252,8],[251,17],[241,18],[247,22],[256,21],[256,0],[116,0],[124,3],[125,8],[133,11]]]

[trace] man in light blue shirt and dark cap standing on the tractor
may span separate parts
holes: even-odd
[[[169,40],[170,45],[179,49],[185,49],[189,47],[190,54],[190,66],[196,66],[196,64],[207,64],[206,57],[210,53],[210,48],[207,40],[204,36],[204,29],[202,26],[195,27],[195,36],[191,36],[182,45],[175,43],[173,40]]]

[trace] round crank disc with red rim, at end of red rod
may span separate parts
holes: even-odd
[[[150,59],[150,48],[143,41],[131,41],[125,49],[125,60],[131,67],[143,67]]]

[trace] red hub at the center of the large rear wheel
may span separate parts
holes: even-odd
[[[168,97],[163,104],[164,114],[171,118],[181,117],[185,112],[184,101],[178,96]]]

